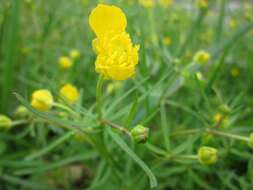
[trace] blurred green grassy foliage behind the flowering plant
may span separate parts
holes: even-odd
[[[207,9],[191,0],[175,0],[168,7],[158,1],[153,7],[135,0],[103,2],[124,10],[127,31],[141,45],[136,76],[106,82],[103,111],[107,119],[129,129],[139,123],[150,128],[145,145],[119,136],[152,170],[158,180],[155,189],[253,189],[253,157],[247,144],[202,131],[216,127],[242,136],[253,131],[252,1],[214,0]],[[95,114],[98,76],[88,15],[97,3],[0,0],[1,114],[15,120],[20,102],[13,92],[29,101],[35,89],[58,95],[70,82],[81,92],[73,107],[83,116],[81,127],[96,125],[86,115]],[[80,51],[80,58],[62,71],[58,59],[73,49]],[[191,71],[193,56],[202,49],[211,60]],[[55,110],[50,114],[58,116]],[[0,189],[150,188],[145,172],[111,132],[103,134],[103,146],[116,164],[108,163],[87,135],[64,129],[64,121],[51,122],[50,114],[35,113],[29,122],[1,130]],[[47,122],[35,122],[41,117]],[[203,166],[157,154],[195,154],[202,145],[219,150],[217,164]]]

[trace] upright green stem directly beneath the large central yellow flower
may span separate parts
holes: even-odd
[[[97,82],[97,87],[96,87],[96,109],[97,109],[97,119],[100,121],[103,117],[102,113],[102,89],[103,89],[103,77],[100,75],[98,82]]]

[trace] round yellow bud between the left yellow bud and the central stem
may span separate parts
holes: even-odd
[[[60,89],[60,95],[70,104],[75,103],[79,98],[79,92],[72,84],[65,84],[62,86]]]

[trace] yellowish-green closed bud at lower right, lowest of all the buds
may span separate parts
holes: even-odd
[[[217,149],[208,146],[202,146],[198,150],[198,157],[201,164],[214,164],[218,160]]]

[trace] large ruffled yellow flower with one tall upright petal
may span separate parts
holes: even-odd
[[[97,35],[92,42],[97,54],[96,72],[111,80],[132,77],[139,61],[139,45],[133,45],[125,32],[124,12],[116,6],[99,4],[89,16],[89,24]]]

